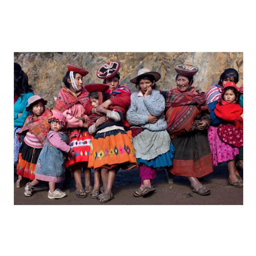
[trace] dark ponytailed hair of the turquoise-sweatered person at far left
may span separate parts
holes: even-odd
[[[19,94],[20,90],[33,92],[32,86],[28,84],[28,76],[21,69],[18,63],[14,62],[14,94]]]

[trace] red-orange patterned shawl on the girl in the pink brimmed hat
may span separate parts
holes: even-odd
[[[19,142],[20,135],[22,132],[29,130],[29,132],[33,133],[38,140],[42,143],[42,145],[46,142],[46,136],[50,127],[50,124],[48,123],[48,119],[52,116],[52,112],[50,108],[45,109],[45,112],[38,116],[36,119],[33,119],[34,114],[31,114],[27,117],[25,120],[25,123],[22,127],[22,129],[16,133]]]

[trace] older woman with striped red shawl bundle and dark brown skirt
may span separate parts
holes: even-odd
[[[192,87],[197,67],[175,65],[178,73],[177,88],[162,91],[165,97],[165,119],[167,131],[175,148],[173,166],[168,169],[174,175],[188,177],[193,192],[210,194],[210,189],[199,182],[213,171],[212,156],[207,139],[210,124],[209,108],[203,100],[204,93]]]

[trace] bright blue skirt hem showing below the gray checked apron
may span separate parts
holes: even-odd
[[[148,167],[153,167],[153,168],[168,167],[173,165],[174,153],[175,153],[175,148],[171,142],[170,149],[166,153],[159,155],[151,160],[144,160],[141,158],[136,158],[136,160],[138,165],[145,164]]]

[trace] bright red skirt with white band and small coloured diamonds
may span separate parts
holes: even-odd
[[[67,154],[65,166],[66,168],[74,163],[88,162],[89,151],[91,148],[91,135],[87,129],[77,128],[68,129],[68,136],[77,133],[78,136],[72,138],[69,142],[69,146],[73,149],[73,153]]]

